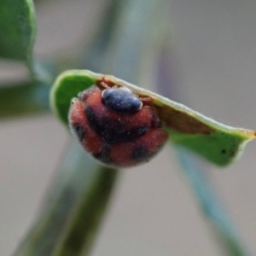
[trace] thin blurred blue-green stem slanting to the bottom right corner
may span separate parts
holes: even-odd
[[[176,149],[183,172],[189,178],[189,182],[195,190],[196,199],[199,201],[204,215],[210,220],[218,242],[222,244],[227,255],[250,255],[212,188],[207,172],[203,170],[195,155],[180,146]]]

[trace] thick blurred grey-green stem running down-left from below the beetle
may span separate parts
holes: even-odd
[[[73,144],[15,256],[88,255],[116,175],[116,170],[99,166]]]

